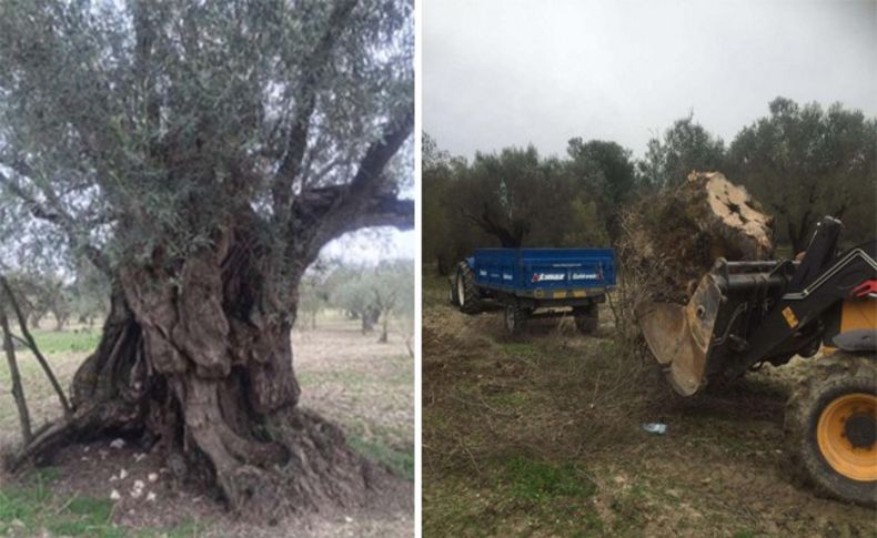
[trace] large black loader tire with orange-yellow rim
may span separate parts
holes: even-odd
[[[877,506],[877,356],[814,361],[786,409],[794,470],[824,495]]]

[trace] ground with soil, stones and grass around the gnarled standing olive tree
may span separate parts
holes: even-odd
[[[89,348],[73,331],[84,332],[70,329],[69,338],[60,338],[58,346],[52,342],[47,353],[64,385],[88,354],[78,349]],[[59,339],[48,332],[44,336]],[[329,316],[319,321],[316,329],[296,329],[292,338],[301,404],[341,424],[354,449],[395,470],[400,478],[390,498],[374,499],[361,509],[253,527],[228,515],[209,491],[178,484],[157,455],[135,446],[113,447],[113,439],[103,439],[65,448],[49,468],[16,477],[0,475],[0,536],[412,536],[414,362],[402,336],[391,333],[389,344],[377,344],[376,333],[362,335],[355,322]],[[56,416],[59,406],[34,361],[21,355],[39,425]],[[0,446],[4,447],[19,440],[8,379],[3,361]],[[120,499],[111,499],[113,491]]]

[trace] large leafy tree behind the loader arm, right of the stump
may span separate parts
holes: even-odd
[[[777,98],[770,115],[744,128],[730,145],[728,173],[777,217],[802,252],[823,215],[841,217],[847,238],[875,236],[877,120],[833,104],[824,110]]]

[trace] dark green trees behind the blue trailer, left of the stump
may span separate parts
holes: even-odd
[[[637,190],[629,151],[569,141],[565,160],[534,148],[453,159],[424,133],[424,260],[440,273],[477,246],[606,246]]]

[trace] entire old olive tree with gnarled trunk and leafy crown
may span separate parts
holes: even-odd
[[[208,469],[233,508],[364,499],[374,471],[298,407],[290,328],[324,244],[412,226],[397,197],[411,181],[411,12],[404,0],[0,3],[3,200],[112,283],[75,413],[24,457],[123,432]]]

